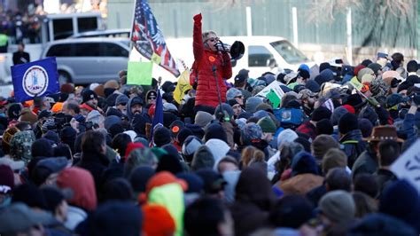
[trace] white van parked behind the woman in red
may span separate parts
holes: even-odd
[[[240,69],[248,69],[251,78],[260,77],[265,72],[278,74],[285,68],[297,70],[300,64],[305,63],[309,67],[315,65],[315,62],[307,57],[292,43],[283,37],[276,36],[221,36],[222,43],[232,44],[240,41],[245,45],[245,55],[242,59],[233,64],[232,78],[237,75]],[[167,47],[171,55],[177,60],[180,71],[183,71],[183,65],[178,59],[182,59],[187,67],[191,67],[194,62],[192,54],[192,38],[167,39]],[[130,60],[138,59],[139,55],[134,50],[131,53]],[[170,80],[175,82],[176,78],[163,67],[153,65],[152,75],[154,78],[162,77],[162,81]],[[232,80],[230,80],[232,81]]]

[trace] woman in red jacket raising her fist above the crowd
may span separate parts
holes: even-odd
[[[194,16],[194,63],[190,75],[192,83],[197,83],[194,112],[205,111],[214,114],[215,107],[226,100],[224,80],[232,76],[232,65],[229,53],[218,50],[219,37],[216,33],[202,33],[201,19],[201,13]]]

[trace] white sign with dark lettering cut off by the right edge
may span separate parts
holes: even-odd
[[[417,139],[393,162],[391,170],[398,178],[406,179],[420,193],[420,148],[418,146],[420,146],[420,139]]]

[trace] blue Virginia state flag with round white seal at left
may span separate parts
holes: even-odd
[[[40,59],[12,67],[14,98],[18,102],[57,93],[56,58]]]

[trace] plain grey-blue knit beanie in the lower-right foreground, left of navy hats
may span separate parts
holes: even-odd
[[[319,201],[319,208],[323,211],[323,215],[338,224],[351,221],[356,211],[352,194],[343,190],[323,195]]]

